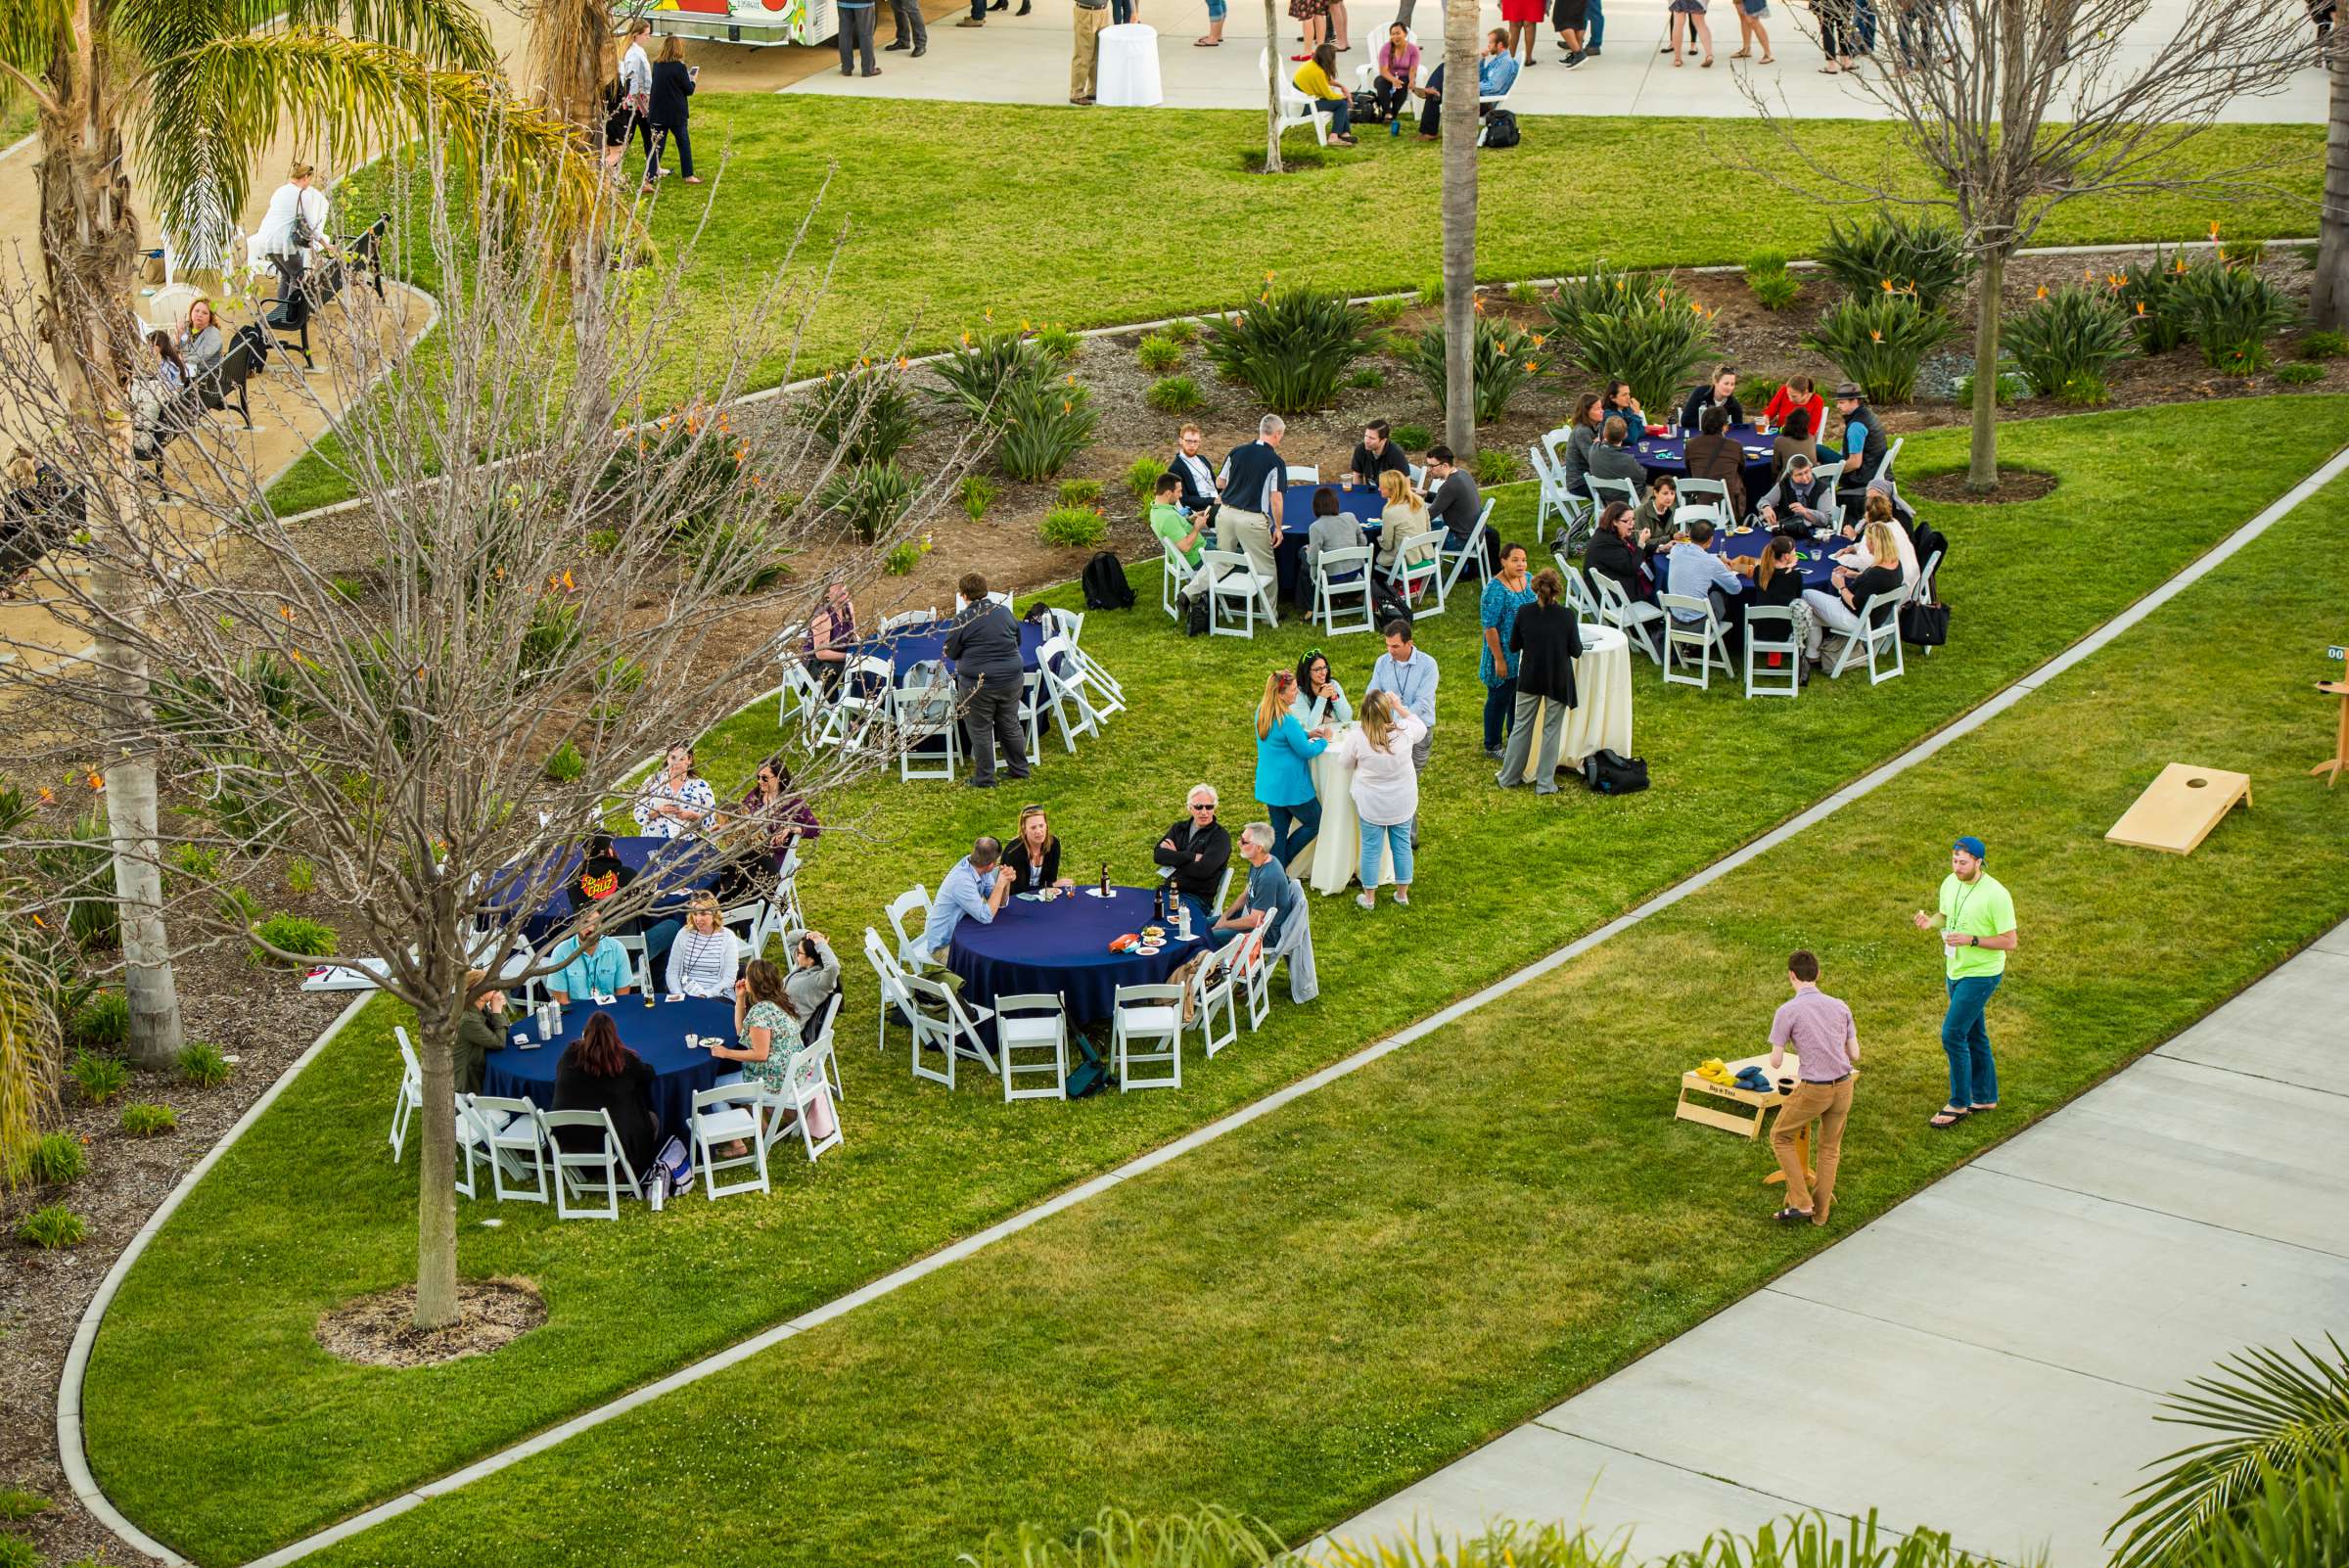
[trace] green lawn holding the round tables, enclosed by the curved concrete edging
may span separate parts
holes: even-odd
[[[1630,800],[1492,791],[1475,737],[1473,617],[1456,606],[1423,631],[1447,681],[1419,897],[1377,920],[1344,899],[1315,904],[1318,1005],[1280,1007],[1266,1033],[1198,1063],[1182,1094],[1005,1108],[982,1075],[961,1094],[914,1084],[902,1035],[888,1061],[874,1059],[860,1045],[871,976],[850,958],[846,1148],[815,1171],[787,1171],[770,1199],[693,1199],[622,1225],[470,1207],[463,1270],[526,1275],[550,1305],[545,1329],[491,1359],[362,1371],[312,1343],[319,1312],[413,1268],[416,1167],[385,1160],[397,1066],[392,1012],[378,1005],[287,1087],[124,1282],[85,1390],[99,1479],[174,1547],[240,1561],[1163,1143],[1602,925],[1940,728],[2288,488],[2344,418],[2349,399],[2248,404],[2225,444],[2203,439],[2192,406],[2013,425],[2011,460],[2058,472],[2062,488],[2037,505],[1933,514],[1957,552],[1945,580],[1952,650],[1875,690],[1818,681],[1797,704],[1755,707],[1722,685],[1665,692],[1642,667],[1637,749],[1656,789]],[[2140,488],[2149,451],[2175,451],[2156,498]],[[1961,458],[1961,432],[1912,437],[1905,467]],[[1137,573],[1137,589],[1142,608],[1085,629],[1135,709],[1106,744],[1076,758],[1048,751],[1031,784],[1073,861],[1109,859],[1120,880],[1146,878],[1149,845],[1191,779],[1221,784],[1233,824],[1254,815],[1247,711],[1273,660],[1294,662],[1313,641],[1301,629],[1259,648],[1184,641],[1156,610],[1151,575]],[[1332,653],[1360,690],[1377,646],[1353,636]],[[705,763],[731,775],[770,744],[770,709],[754,704],[709,737]],[[895,782],[824,803],[857,831],[827,836],[810,857],[815,922],[853,955],[897,890],[935,887],[956,845],[1008,831],[1015,803]],[[503,1225],[474,1223],[491,1216]],[[942,1350],[961,1333],[940,1326],[923,1340]]]

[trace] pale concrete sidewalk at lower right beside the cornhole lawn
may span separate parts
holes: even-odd
[[[2100,1563],[2161,1397],[2349,1324],[2349,925],[2185,1035],[1614,1378],[1332,1530],[1790,1509]],[[1865,1091],[1865,1089],[1863,1089]]]

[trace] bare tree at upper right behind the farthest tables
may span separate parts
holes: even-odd
[[[1853,73],[1851,82],[1898,127],[1907,157],[1933,178],[1926,190],[1893,160],[1872,169],[1818,162],[1802,124],[1750,75],[1738,77],[1804,169],[1797,181],[1764,169],[1771,178],[1828,204],[1957,216],[1980,270],[1968,491],[1999,484],[1999,291],[2015,251],[2074,197],[2225,190],[2253,178],[2250,167],[2189,176],[2175,153],[2229,103],[2276,92],[2295,66],[2314,61],[2297,5],[2194,5],[2168,33],[2147,26],[2149,12],[2152,0],[1893,0],[1891,68]],[[1818,14],[1795,14],[1816,38]],[[1825,14],[1825,26],[1837,26],[1837,12]]]

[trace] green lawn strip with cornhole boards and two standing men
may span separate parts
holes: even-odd
[[[2102,533],[2077,507],[2067,521]],[[2107,559],[2149,530],[2107,535]],[[2304,775],[2344,561],[2335,484],[2018,709],[1508,1002],[317,1561],[947,1563],[1015,1521],[1073,1530],[1104,1500],[1217,1500],[1290,1540],[1339,1523],[1849,1235],[2349,915],[2344,800]],[[1978,599],[1959,599],[1961,624]],[[2102,843],[2180,756],[2248,770],[2257,810],[2192,859]],[[1637,803],[1574,815],[1621,815],[1626,847],[1642,829]],[[1992,1014],[2004,1110],[1943,1136],[1924,1127],[1943,1096],[1940,948],[1907,913],[1959,831],[1987,836],[2022,948]],[[1571,876],[1571,857],[1515,838],[1546,880]],[[1428,892],[1447,901],[1421,932],[1515,908],[1461,871]],[[1670,1120],[1684,1066],[1757,1045],[1792,946],[1823,955],[1865,1045],[1825,1235],[1766,1223],[1764,1145]],[[1407,967],[1325,979],[1346,995]]]

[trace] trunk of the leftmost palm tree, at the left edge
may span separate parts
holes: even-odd
[[[66,406],[82,425],[92,451],[122,448],[129,420],[122,413],[127,385],[124,347],[132,303],[132,265],[139,223],[124,174],[120,101],[113,92],[103,40],[78,33],[78,54],[52,63],[49,80],[66,113],[40,115],[40,333],[66,392]],[[63,80],[59,80],[63,75]],[[127,455],[127,453],[124,453]],[[124,472],[124,462],[92,465],[101,474]],[[101,481],[113,486],[110,479]],[[94,498],[92,519],[115,519],[124,528],[146,526],[136,488]],[[143,606],[106,568],[122,545],[94,552],[92,592],[127,627]],[[155,758],[148,746],[153,709],[148,669],[117,636],[99,638],[99,667],[115,692],[108,714],[106,819],[115,847],[115,897],[122,904],[122,967],[129,1000],[132,1056],[146,1068],[164,1068],[179,1056],[179,986],[171,979],[171,946],[162,922],[162,871],[157,859]]]

